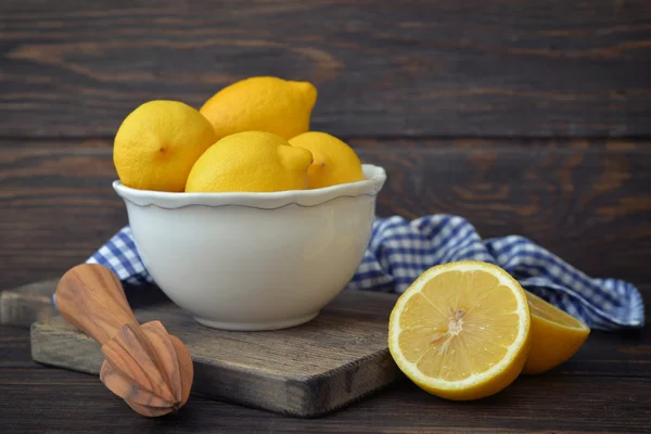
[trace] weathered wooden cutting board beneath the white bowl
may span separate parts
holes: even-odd
[[[317,417],[401,378],[386,346],[394,295],[346,291],[312,321],[269,332],[203,327],[157,289],[127,295],[140,322],[159,320],[187,345],[194,361],[193,395]],[[30,334],[34,360],[99,374],[100,346],[62,318],[35,322]]]

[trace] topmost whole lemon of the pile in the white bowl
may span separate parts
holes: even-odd
[[[283,139],[309,130],[317,88],[307,81],[251,77],[207,100],[200,112],[224,138],[242,131],[273,132]]]

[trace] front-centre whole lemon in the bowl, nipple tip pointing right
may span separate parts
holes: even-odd
[[[204,152],[190,171],[186,191],[304,190],[311,161],[309,151],[271,132],[238,132]]]

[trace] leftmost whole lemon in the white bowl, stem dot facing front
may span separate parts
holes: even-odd
[[[127,187],[181,192],[196,159],[216,141],[213,126],[196,108],[178,101],[150,101],[119,126],[113,163]]]

